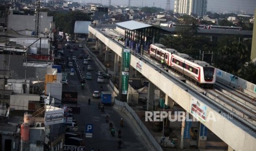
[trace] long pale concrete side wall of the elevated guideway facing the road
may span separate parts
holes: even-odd
[[[122,57],[121,53],[123,47],[119,43],[115,42],[113,39],[107,38],[103,33],[97,31],[97,29],[92,26],[89,26],[89,32],[94,34],[96,38],[106,44],[107,47],[113,50],[118,56]],[[137,68],[138,63],[140,63],[141,69]],[[223,115],[219,113],[219,109],[215,109],[213,105],[206,104],[198,98],[195,98],[195,94],[190,94],[189,91],[181,88],[177,82],[172,82],[170,77],[166,77],[165,74],[156,71],[155,68],[152,68],[133,55],[130,57],[130,65],[139,70],[144,77],[148,78],[152,84],[156,85],[165,92],[166,95],[170,96],[172,100],[177,102],[179,106],[184,108],[187,112],[191,113],[191,107],[194,101],[204,104],[206,107],[206,115],[211,116],[206,117],[203,124],[227,143],[228,146],[235,150],[255,150],[256,136],[254,133],[247,130],[246,127],[239,127],[236,125],[235,120],[224,118]],[[215,117],[216,120],[208,120],[211,117]],[[252,133],[252,135],[250,133]]]

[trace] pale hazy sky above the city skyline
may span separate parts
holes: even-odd
[[[102,3],[108,5],[109,0],[78,0],[85,3]],[[170,0],[170,8],[173,10],[175,0]],[[111,5],[128,5],[128,0],[111,0]],[[167,0],[130,0],[131,6],[136,7],[160,7],[166,8]],[[254,14],[256,0],[208,0],[207,11],[213,13],[237,13],[245,11],[246,14]]]

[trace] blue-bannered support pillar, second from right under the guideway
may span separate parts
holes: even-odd
[[[182,121],[181,124],[181,149],[189,148],[190,146],[190,127],[192,125],[192,121]]]

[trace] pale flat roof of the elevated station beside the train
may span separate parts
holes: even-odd
[[[130,20],[130,21],[124,21],[124,22],[119,22],[117,23],[118,26],[127,28],[129,30],[137,30],[140,28],[146,28],[146,27],[151,27],[152,25],[144,24],[138,21]]]

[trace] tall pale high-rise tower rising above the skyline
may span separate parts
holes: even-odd
[[[206,8],[207,0],[175,0],[174,13],[203,16]]]

